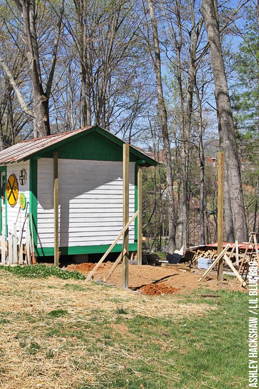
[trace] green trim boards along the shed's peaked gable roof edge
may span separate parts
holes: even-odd
[[[119,139],[117,136],[113,135],[109,131],[104,130],[100,126],[93,126],[92,128],[85,130],[83,132],[80,132],[79,134],[75,134],[67,139],[61,140],[49,147],[46,147],[44,149],[41,149],[33,154],[33,159],[41,157],[42,155],[45,155],[46,153],[48,154],[50,151],[54,151],[57,148],[63,147],[67,143],[73,142],[74,140],[77,140],[78,138],[81,138],[83,136],[88,136],[89,134],[96,132],[100,134],[101,136],[109,139],[111,142],[115,143],[116,145],[120,146],[122,148],[122,145],[125,143],[123,140]],[[122,151],[122,150],[121,150]],[[157,161],[153,160],[152,158],[149,158],[146,154],[143,152],[139,151],[135,147],[132,147],[130,145],[130,157],[134,157],[133,160],[136,161],[136,158],[140,159],[142,163],[146,163],[146,166],[157,166]],[[28,157],[28,159],[31,158]],[[47,157],[48,158],[48,157]],[[77,158],[81,159],[81,158]],[[105,159],[102,159],[105,160]],[[131,158],[132,160],[132,158]],[[121,161],[122,161],[122,152],[121,152]]]

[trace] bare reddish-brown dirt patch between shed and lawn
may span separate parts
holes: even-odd
[[[103,280],[108,274],[112,266],[112,262],[103,263],[96,275],[95,279]],[[82,263],[79,265],[69,265],[68,270],[78,270],[82,274],[87,275],[94,268],[95,263]],[[128,274],[128,285],[134,290],[140,290],[143,294],[171,294],[171,293],[189,293],[195,289],[210,289],[210,290],[235,290],[243,291],[244,288],[235,279],[228,279],[223,282],[217,281],[216,272],[211,272],[201,283],[198,282],[202,270],[197,269],[195,273],[181,271],[177,268],[149,266],[149,265],[130,265]],[[122,264],[119,264],[112,276],[108,280],[109,283],[117,286],[122,286]]]

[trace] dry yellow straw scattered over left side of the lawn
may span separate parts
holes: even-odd
[[[83,281],[24,279],[5,271],[0,273],[0,289],[2,389],[100,387],[104,377],[112,379],[114,369],[121,368],[121,361],[142,360],[123,344],[112,347],[102,342],[93,347],[102,335],[98,325],[108,320],[112,326],[118,306],[127,310],[127,319],[142,315],[174,321],[191,320],[193,315],[214,309]],[[65,314],[50,317],[53,310],[58,313],[60,309]],[[70,333],[59,334],[59,328],[69,328]],[[83,341],[76,336],[80,328],[84,328]]]

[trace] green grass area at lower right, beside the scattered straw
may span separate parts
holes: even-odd
[[[210,291],[210,293],[212,293]],[[214,292],[212,293],[214,294]],[[99,326],[100,344],[115,347],[141,358],[121,361],[122,369],[112,380],[105,378],[98,389],[230,389],[247,387],[247,295],[240,292],[217,291],[219,298],[206,299],[217,304],[218,310],[204,317],[186,318],[180,323],[136,316],[127,320],[118,315],[116,324],[126,325],[128,332],[110,331]],[[204,302],[200,292],[183,301]],[[80,336],[80,334],[77,334]],[[96,370],[98,374],[98,370]],[[174,378],[175,377],[175,378]],[[142,383],[142,386],[140,384]],[[79,389],[90,389],[81,386]]]

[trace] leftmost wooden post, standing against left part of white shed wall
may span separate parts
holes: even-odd
[[[54,178],[54,264],[59,266],[59,171],[58,153],[53,153],[53,178]]]

